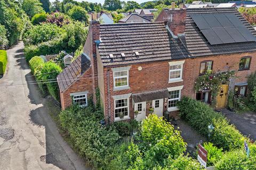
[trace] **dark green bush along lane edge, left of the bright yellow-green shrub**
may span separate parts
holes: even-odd
[[[60,123],[69,133],[79,155],[88,159],[95,168],[103,168],[109,164],[107,157],[113,154],[120,137],[111,126],[101,126],[93,112],[93,107],[72,106],[60,113]]]

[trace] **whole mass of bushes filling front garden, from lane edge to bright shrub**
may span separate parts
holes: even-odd
[[[85,109],[73,105],[59,115],[61,127],[71,143],[94,168],[199,169],[196,160],[182,154],[186,143],[179,131],[162,118],[149,115],[139,127],[135,120],[101,126],[102,115],[100,109],[94,111],[91,105]],[[132,131],[135,133],[131,137]],[[122,134],[121,138],[117,132],[126,136]]]

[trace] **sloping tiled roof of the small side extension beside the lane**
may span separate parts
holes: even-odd
[[[67,66],[57,77],[60,91],[66,90],[83,73],[91,67],[90,60],[82,54]]]

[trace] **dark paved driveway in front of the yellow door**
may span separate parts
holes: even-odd
[[[221,113],[224,114],[231,124],[234,124],[236,128],[247,137],[256,141],[256,114],[253,112],[247,112],[243,114],[237,114],[224,108],[221,109]]]

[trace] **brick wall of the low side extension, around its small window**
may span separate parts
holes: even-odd
[[[87,99],[93,94],[92,88],[92,69],[87,70],[77,81],[75,81],[67,90],[60,93],[61,109],[65,109],[73,104],[70,96],[74,92],[89,91]]]

